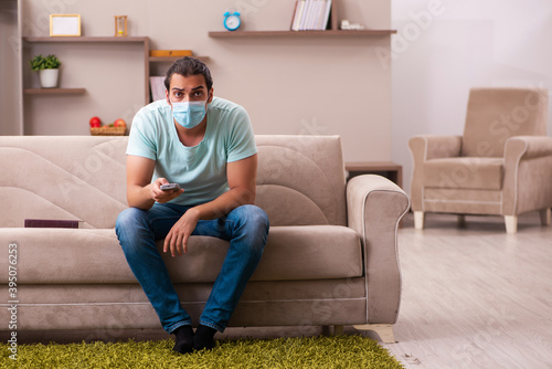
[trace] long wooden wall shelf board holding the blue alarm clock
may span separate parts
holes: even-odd
[[[270,36],[376,36],[391,35],[396,30],[327,30],[327,31],[213,31],[210,38],[270,38]]]

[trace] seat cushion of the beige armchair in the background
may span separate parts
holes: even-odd
[[[444,158],[424,162],[424,187],[500,190],[501,158]]]

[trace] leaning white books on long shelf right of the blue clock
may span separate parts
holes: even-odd
[[[331,0],[297,0],[291,31],[323,31],[328,28]]]

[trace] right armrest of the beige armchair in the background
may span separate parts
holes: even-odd
[[[502,186],[505,215],[552,205],[552,137],[516,136],[506,141]]]

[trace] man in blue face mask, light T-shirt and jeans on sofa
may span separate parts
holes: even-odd
[[[180,59],[167,72],[167,101],[135,116],[127,147],[130,208],[116,223],[130,270],[181,354],[213,348],[268,235],[266,213],[253,205],[257,150],[250,118],[243,107],[213,97],[212,84],[205,64]],[[161,189],[168,183],[179,188]],[[190,235],[230,241],[195,334],[156,246],[164,239],[162,252],[177,257],[187,253]]]

